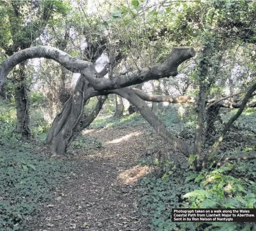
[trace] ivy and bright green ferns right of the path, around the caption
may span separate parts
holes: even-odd
[[[250,230],[246,223],[181,223],[171,221],[172,208],[256,208],[256,183],[247,176],[253,173],[250,165],[236,163],[202,172],[185,172],[181,166],[172,167],[164,177],[148,176],[140,180],[142,213],[150,218],[151,229],[169,230]],[[249,163],[249,162],[248,162]],[[239,169],[239,172],[237,171]],[[237,175],[242,178],[237,178]],[[243,177],[244,176],[244,177]]]

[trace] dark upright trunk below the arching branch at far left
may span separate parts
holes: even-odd
[[[17,71],[18,86],[15,89],[15,100],[17,108],[17,132],[27,139],[31,135],[29,120],[29,99],[26,90],[25,64],[21,63]]]

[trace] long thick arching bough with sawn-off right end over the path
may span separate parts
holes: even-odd
[[[194,57],[195,51],[189,47],[173,48],[170,57],[161,64],[153,65],[151,68],[130,71],[125,75],[113,79],[99,78],[92,63],[76,59],[59,49],[48,46],[30,47],[14,53],[8,59],[0,63],[0,88],[4,84],[8,73],[12,68],[33,58],[53,59],[72,72],[80,72],[91,86],[97,91],[119,89],[145,81],[159,79],[161,77],[176,76],[178,66],[187,59]]]

